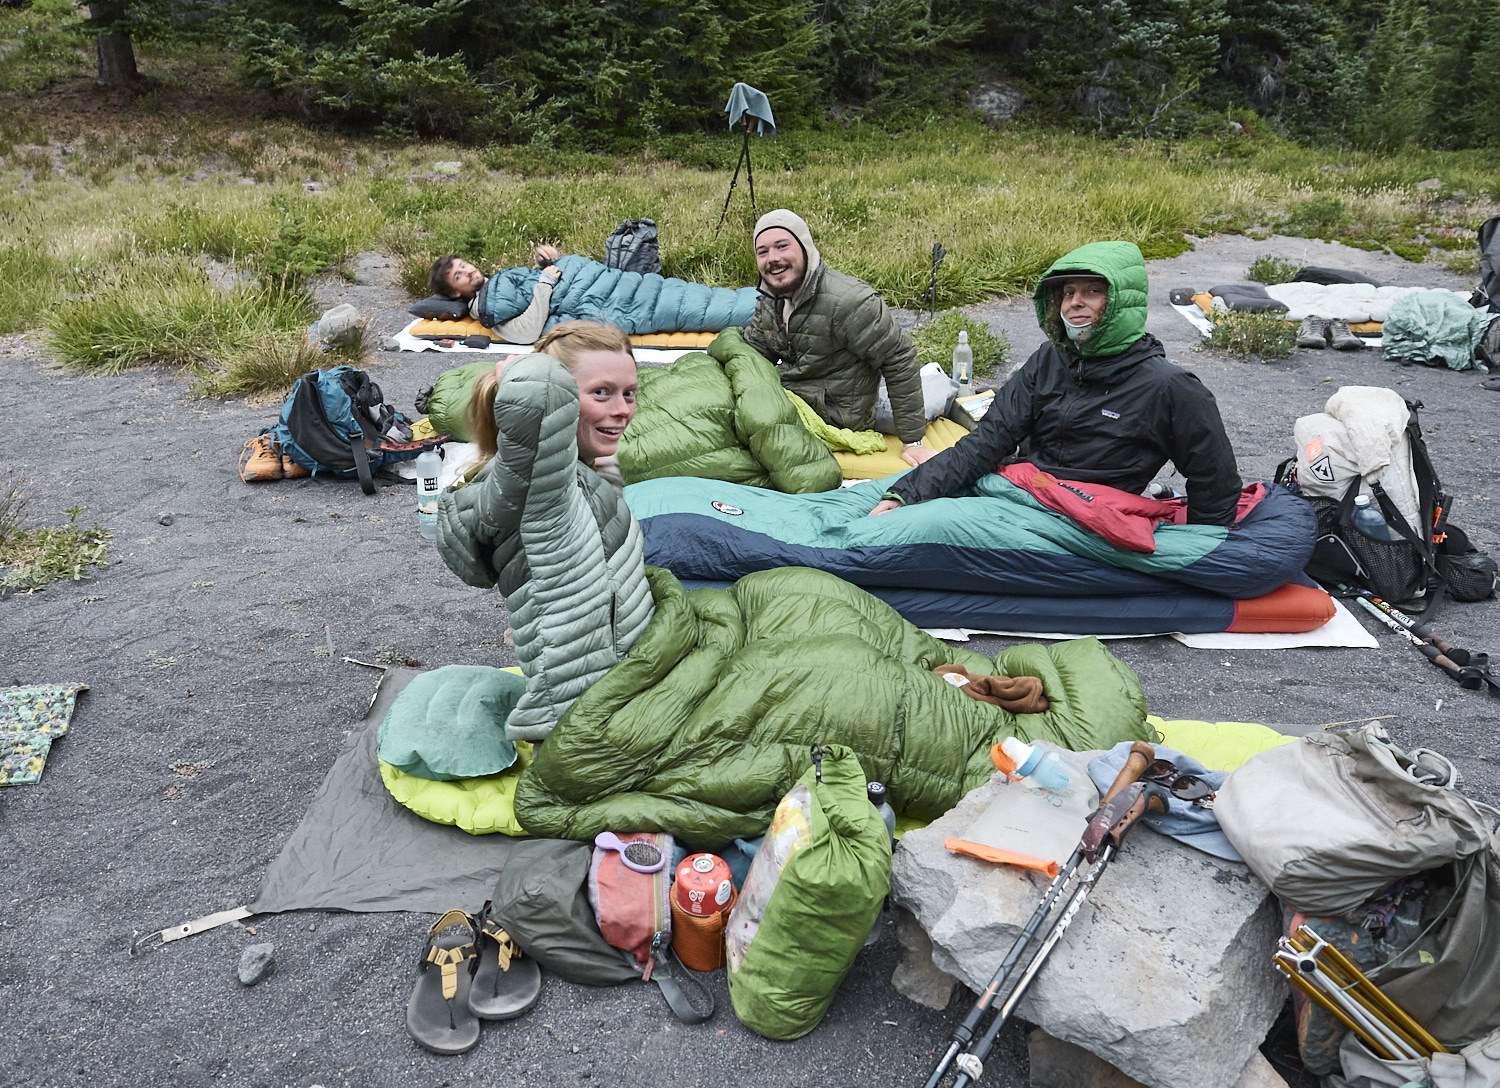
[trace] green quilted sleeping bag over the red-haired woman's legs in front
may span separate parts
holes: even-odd
[[[760,834],[808,767],[848,744],[900,813],[934,819],[994,773],[1005,737],[1070,749],[1146,740],[1136,675],[1096,639],[1020,645],[992,663],[832,575],[783,567],[686,591],[648,569],[656,617],[520,774],[532,836],[670,831],[693,846]],[[1041,677],[1050,708],[1011,714],[932,672]]]

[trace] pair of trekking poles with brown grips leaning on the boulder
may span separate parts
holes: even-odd
[[[1006,1025],[1011,1019],[1011,1013],[1016,1011],[1016,1005],[1020,1004],[1022,998],[1026,995],[1026,989],[1030,986],[1032,980],[1041,971],[1042,963],[1047,962],[1048,953],[1062,939],[1064,932],[1072,923],[1072,918],[1078,914],[1083,902],[1089,897],[1089,891],[1098,884],[1100,876],[1108,867],[1110,860],[1119,852],[1120,846],[1125,845],[1125,837],[1136,827],[1137,821],[1148,812],[1166,812],[1167,810],[1167,792],[1168,788],[1158,785],[1156,782],[1143,782],[1142,774],[1146,767],[1155,761],[1155,750],[1150,744],[1144,741],[1136,741],[1131,744],[1130,758],[1125,761],[1125,767],[1114,777],[1110,785],[1104,800],[1100,801],[1100,807],[1095,809],[1094,815],[1089,816],[1089,822],[1083,830],[1083,837],[1078,840],[1077,848],[1068,858],[1068,863],[1058,870],[1053,876],[1052,884],[1047,887],[1047,893],[1042,896],[1041,903],[1032,914],[1030,920],[1022,927],[1020,935],[1011,945],[1010,951],[1005,953],[1005,959],[1000,960],[1000,968],[994,972],[994,978],[990,984],[984,987],[984,993],[974,1002],[974,1008],[969,1014],[963,1017],[963,1022],[954,1028],[952,1038],[948,1043],[948,1049],[944,1052],[942,1059],[933,1070],[933,1074],[927,1077],[926,1088],[938,1088],[938,1083],[948,1074],[950,1070],[957,1068],[957,1077],[952,1082],[952,1088],[966,1088],[966,1085],[974,1083],[984,1073],[984,1058],[990,1053],[990,1047],[994,1046],[996,1037],[1000,1034],[1000,1028]],[[1185,779],[1184,779],[1185,780]],[[1198,782],[1194,779],[1194,782]],[[1170,786],[1173,792],[1178,791],[1178,785]],[[1194,789],[1186,786],[1192,797],[1184,797],[1184,800],[1202,798],[1202,789]],[[1041,942],[1026,959],[1026,966],[1020,968],[1022,959],[1026,956],[1028,947],[1032,939],[1041,930],[1042,923],[1053,912],[1053,906],[1062,897],[1068,884],[1072,882],[1074,875],[1077,875],[1080,866],[1086,864],[1083,876],[1078,879],[1078,885],[1072,890],[1068,899],[1064,902],[1062,909],[1058,912],[1056,921],[1041,938]],[[980,1022],[984,1019],[986,1013],[994,1007],[994,1002],[1000,998],[1002,990],[1011,983],[1011,977],[1020,968],[1020,978],[1010,986],[1005,992],[1004,1002],[999,1005],[999,1011],[990,1025],[984,1029],[982,1035],[978,1035]]]

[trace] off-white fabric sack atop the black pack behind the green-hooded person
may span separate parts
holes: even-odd
[[[1338,500],[1358,476],[1364,480],[1359,492],[1374,503],[1370,485],[1378,482],[1407,525],[1416,528],[1420,503],[1406,437],[1410,417],[1406,401],[1394,389],[1340,389],[1328,398],[1322,413],[1304,416],[1293,428],[1302,494]]]

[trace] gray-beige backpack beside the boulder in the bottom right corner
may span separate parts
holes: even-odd
[[[1371,722],[1262,752],[1214,801],[1234,849],[1293,911],[1353,917],[1404,876],[1442,878],[1422,954],[1401,950],[1365,974],[1444,1046],[1500,1028],[1500,813],[1456,785],[1448,759],[1402,752]]]

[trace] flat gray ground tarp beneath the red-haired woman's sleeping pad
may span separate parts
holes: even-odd
[[[416,677],[390,669],[350,734],[308,815],[272,861],[249,903],[279,911],[478,911],[495,887],[512,839],[470,834],[404,809],[380,779],[375,731]]]

